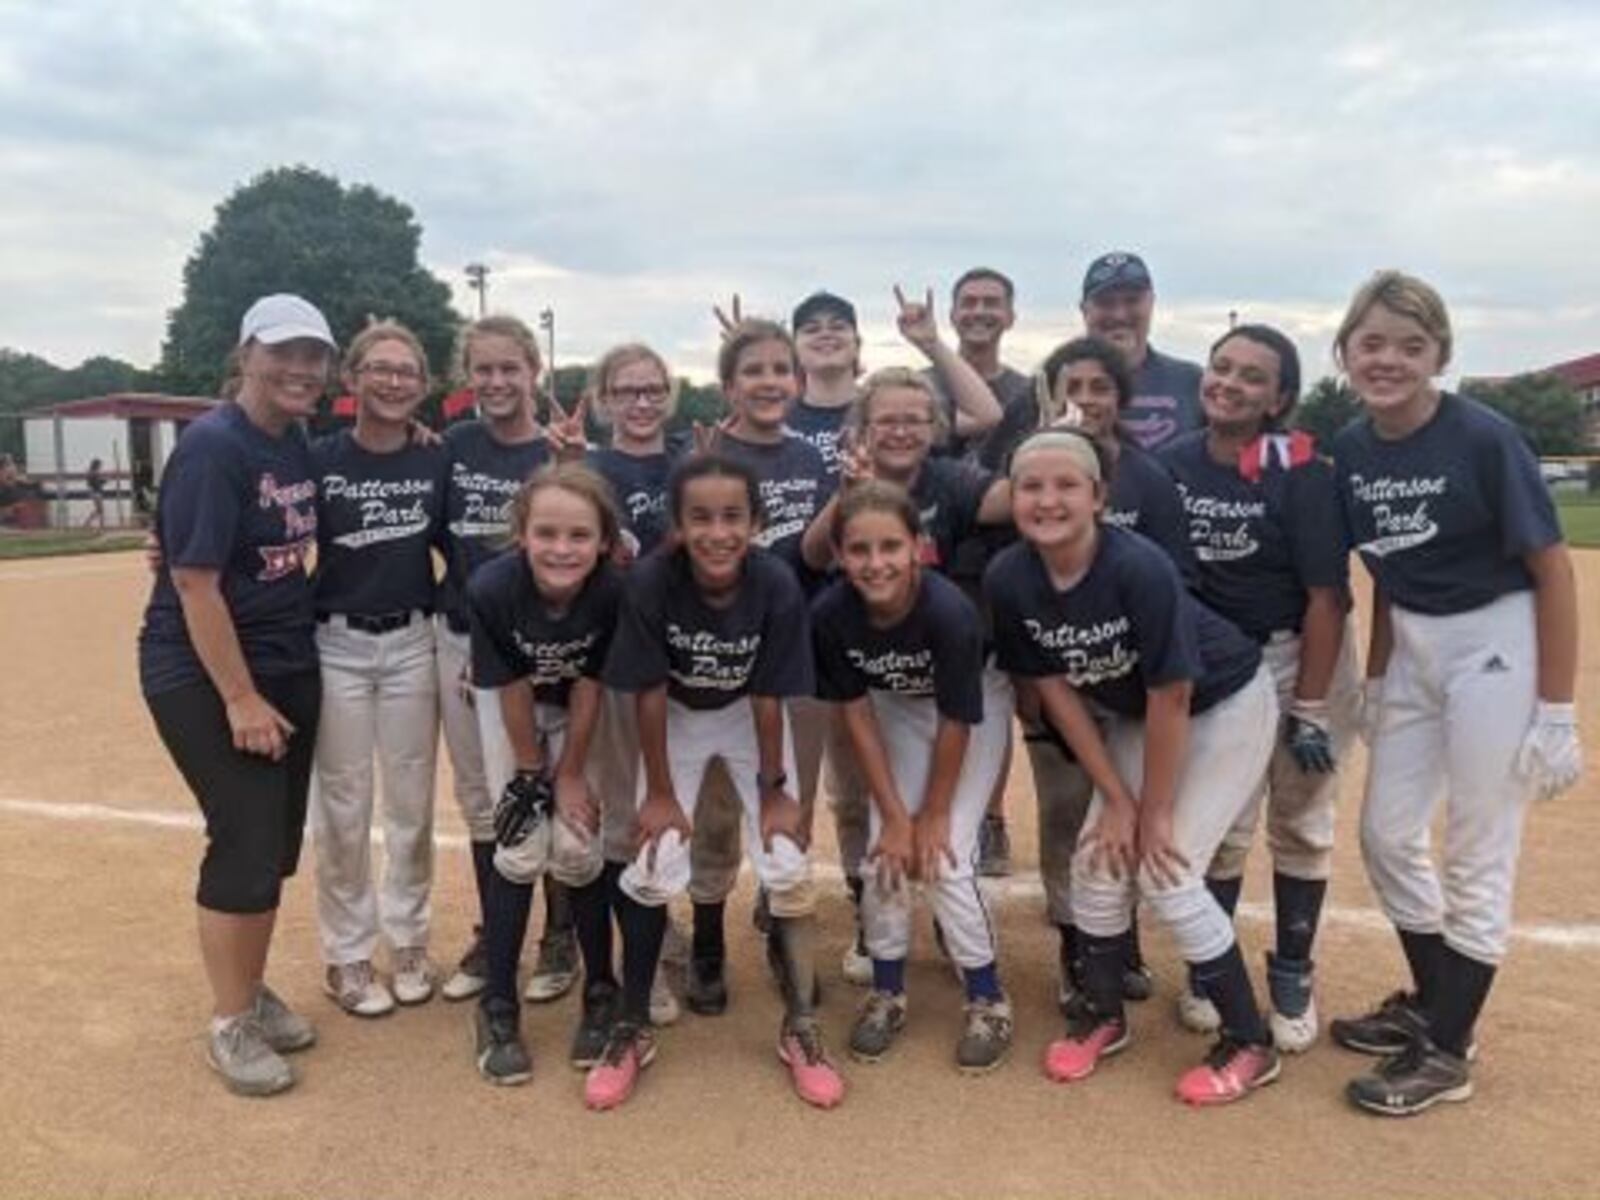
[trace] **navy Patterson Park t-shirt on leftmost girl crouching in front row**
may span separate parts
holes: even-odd
[[[565,709],[573,680],[600,677],[621,600],[622,582],[602,560],[566,610],[552,613],[520,549],[491,558],[467,584],[472,682],[502,688],[528,680],[534,699]]]

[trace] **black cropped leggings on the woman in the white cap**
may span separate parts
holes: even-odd
[[[294,874],[317,747],[322,677],[256,680],[294,733],[278,762],[234,749],[227,706],[210,680],[146,696],[155,728],[205,813],[206,850],[195,899],[214,912],[270,912]]]

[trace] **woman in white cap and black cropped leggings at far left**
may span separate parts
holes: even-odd
[[[246,1096],[291,1086],[282,1054],[315,1042],[264,974],[299,861],[322,704],[304,568],[317,483],[299,421],[334,350],[326,318],[299,296],[266,296],[245,314],[229,400],[189,426],[166,464],[155,518],[165,562],[139,634],[146,704],[206,821],[208,1059]]]

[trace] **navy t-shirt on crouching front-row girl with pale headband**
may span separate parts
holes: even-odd
[[[1094,562],[1066,592],[1027,542],[984,574],[998,664],[1014,675],[1064,675],[1104,709],[1142,717],[1150,688],[1190,682],[1190,712],[1243,688],[1261,646],[1195,600],[1155,542],[1101,528]]]

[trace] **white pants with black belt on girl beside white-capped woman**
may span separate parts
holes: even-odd
[[[434,765],[438,685],[434,627],[418,616],[387,634],[317,626],[322,717],[310,829],[317,926],[328,963],[368,962],[378,936],[427,946],[434,883]],[[382,781],[382,883],[371,870],[373,755]]]

